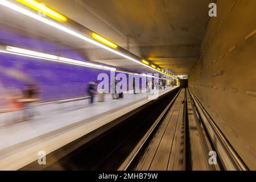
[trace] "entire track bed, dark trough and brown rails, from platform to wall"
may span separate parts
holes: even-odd
[[[175,89],[52,152],[48,165],[21,170],[246,170],[205,114],[188,89]],[[209,151],[218,154],[216,164],[209,163]]]

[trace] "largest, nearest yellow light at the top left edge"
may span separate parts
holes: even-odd
[[[67,21],[67,18],[56,11],[49,9],[49,7],[46,7],[45,5],[36,2],[34,0],[16,0],[20,3],[23,3],[23,5],[26,5],[28,7],[31,7],[32,9],[36,11],[42,11],[42,14],[45,14],[59,22],[65,22]]]

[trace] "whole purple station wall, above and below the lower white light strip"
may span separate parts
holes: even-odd
[[[5,30],[0,30],[0,43],[83,60],[70,48],[16,35]],[[110,71],[0,53],[0,84],[8,92],[10,89],[22,90],[23,86],[35,82],[42,92],[42,101],[86,96],[89,82],[97,80],[100,73],[106,73],[110,78]],[[128,82],[128,75],[126,76]],[[139,82],[142,85],[141,79]]]

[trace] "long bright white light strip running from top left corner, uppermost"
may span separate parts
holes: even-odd
[[[152,69],[152,70],[154,70],[154,71],[157,71],[157,72],[159,72],[159,73],[162,73],[162,72],[158,71],[158,70],[155,69],[155,68],[152,68],[152,67],[150,67],[150,66],[148,66],[148,65],[146,65],[146,64],[143,64],[141,61],[135,60],[135,59],[133,59],[133,58],[130,57],[130,56],[127,56],[127,55],[124,55],[124,54],[121,53],[121,52],[115,51],[114,49],[109,48],[109,47],[107,47],[107,46],[104,46],[103,44],[100,44],[100,43],[98,43],[98,42],[96,42],[96,41],[94,41],[94,40],[92,40],[92,39],[86,38],[85,36],[83,36],[83,35],[81,35],[81,34],[75,32],[75,31],[73,31],[73,30],[70,30],[70,29],[68,29],[68,28],[66,28],[66,27],[64,27],[64,26],[61,26],[61,25],[58,24],[58,23],[52,22],[51,20],[48,20],[48,19],[46,19],[46,18],[43,18],[42,16],[39,16],[39,15],[37,15],[37,14],[34,14],[34,13],[32,13],[32,12],[26,10],[26,9],[23,9],[22,7],[16,6],[15,4],[10,3],[10,2],[8,2],[8,1],[6,1],[6,0],[1,0],[1,1],[0,1],[0,5],[9,7],[9,8],[12,9],[12,10],[15,10],[15,11],[18,11],[19,13],[22,13],[22,14],[24,14],[24,15],[30,16],[31,18],[34,18],[34,19],[36,19],[36,20],[39,20],[40,22],[43,22],[43,23],[48,24],[49,26],[52,26],[52,27],[55,27],[55,28],[57,28],[57,29],[59,29],[59,30],[62,30],[62,31],[64,31],[64,32],[67,32],[68,34],[71,34],[71,35],[73,35],[73,36],[76,36],[77,38],[80,38],[80,39],[82,39],[82,40],[85,40],[86,42],[92,43],[92,44],[94,44],[94,45],[96,45],[96,46],[98,46],[98,47],[104,48],[104,49],[106,49],[106,50],[108,50],[108,51],[110,51],[110,52],[113,52],[113,53],[115,53],[115,54],[117,54],[117,55],[119,55],[119,56],[125,57],[126,59],[129,59],[129,60],[131,60],[131,61],[134,61],[135,63],[141,64],[141,65],[143,65],[144,67],[147,67],[147,68],[150,68],[150,69]],[[165,73],[162,73],[162,74],[168,76],[168,75],[165,74]],[[171,76],[170,76],[170,77],[171,77]],[[172,77],[172,78],[174,78],[174,77]],[[174,79],[176,79],[176,78],[174,78]]]

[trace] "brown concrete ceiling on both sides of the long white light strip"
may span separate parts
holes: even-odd
[[[199,57],[212,0],[43,0],[77,23],[177,75],[188,74]],[[88,59],[138,69],[98,48],[76,44]],[[75,46],[76,47],[76,46]],[[97,56],[98,55],[98,56]],[[135,65],[137,64],[137,65]]]

